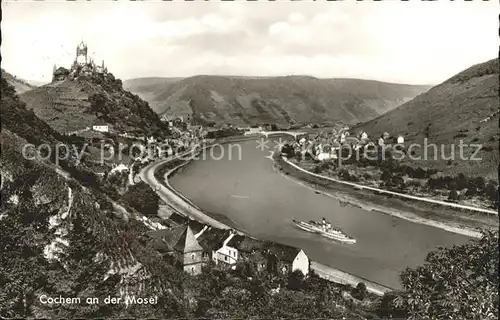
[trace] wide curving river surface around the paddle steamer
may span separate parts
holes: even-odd
[[[401,271],[422,264],[429,251],[469,241],[383,213],[341,207],[337,200],[277,173],[266,158],[271,149],[256,146],[250,140],[214,148],[170,183],[203,210],[227,216],[257,238],[300,247],[312,260],[392,288],[401,288]],[[357,243],[337,244],[292,225],[293,218],[322,217]]]

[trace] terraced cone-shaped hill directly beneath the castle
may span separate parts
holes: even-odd
[[[61,133],[108,124],[118,131],[161,135],[168,129],[147,102],[123,90],[121,80],[104,77],[62,79],[20,95],[28,109]]]

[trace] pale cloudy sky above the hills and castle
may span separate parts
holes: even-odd
[[[123,80],[194,75],[438,84],[498,56],[497,1],[2,1],[2,68],[50,82],[80,41]]]

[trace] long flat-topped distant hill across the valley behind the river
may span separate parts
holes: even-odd
[[[195,76],[125,82],[160,115],[192,115],[200,122],[254,125],[372,119],[425,92],[428,86],[307,76],[245,78]]]

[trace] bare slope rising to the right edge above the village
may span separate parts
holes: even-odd
[[[428,92],[353,130],[377,137],[404,134],[407,143],[455,145],[457,160],[427,160],[419,165],[448,173],[486,174],[497,179],[499,141],[498,59],[474,65]],[[481,161],[458,160],[458,144],[481,144]],[[467,155],[474,148],[467,148]],[[417,151],[418,152],[418,151]],[[466,158],[466,157],[464,157]]]

